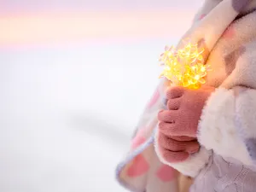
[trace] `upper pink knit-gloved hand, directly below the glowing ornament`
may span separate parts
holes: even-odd
[[[166,136],[196,137],[202,108],[214,90],[213,87],[189,90],[179,86],[167,90],[169,110],[162,110],[158,115],[160,132]]]

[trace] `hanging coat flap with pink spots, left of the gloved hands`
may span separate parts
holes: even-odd
[[[164,107],[165,81],[154,90],[131,139],[131,150],[117,168],[119,183],[131,191],[179,192],[177,190],[178,173],[170,166],[162,164],[154,151],[154,131],[157,125],[157,113]]]

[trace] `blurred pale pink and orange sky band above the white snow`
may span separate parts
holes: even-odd
[[[178,38],[201,0],[190,8],[188,2],[192,1],[0,0],[0,46]]]

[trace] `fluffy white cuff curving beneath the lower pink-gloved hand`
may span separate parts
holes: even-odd
[[[163,158],[163,156],[160,153],[158,143],[156,142],[158,141],[157,137],[158,134],[156,133],[154,139],[154,148],[160,161],[166,164],[167,166],[172,166],[178,172],[183,173],[183,175],[195,177],[201,171],[201,169],[207,165],[211,151],[208,151],[204,147],[201,147],[198,153],[191,154],[187,160],[177,163],[168,162],[167,160],[165,160],[165,158]]]

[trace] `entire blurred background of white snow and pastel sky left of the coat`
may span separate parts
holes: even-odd
[[[0,0],[0,191],[124,192],[114,169],[201,0]]]

